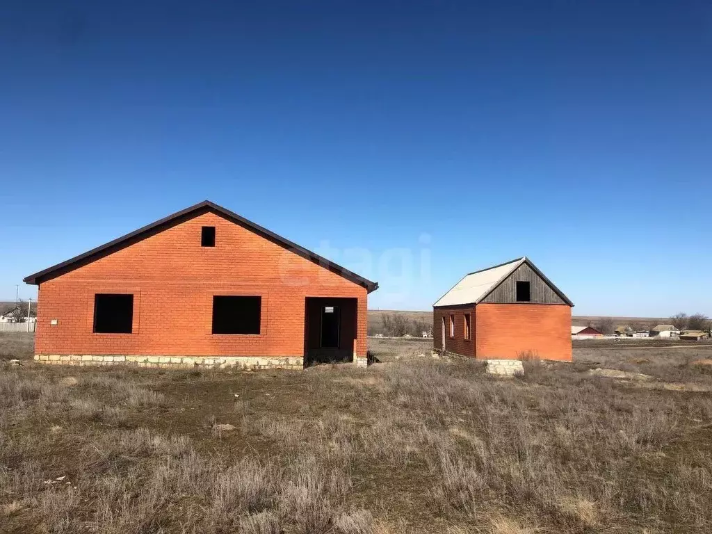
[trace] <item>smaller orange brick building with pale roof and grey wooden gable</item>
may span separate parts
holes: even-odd
[[[571,360],[573,303],[528,258],[469,273],[433,305],[434,347],[483,359]]]

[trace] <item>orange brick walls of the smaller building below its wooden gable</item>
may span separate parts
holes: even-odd
[[[464,314],[470,314],[470,341],[464,340]],[[449,317],[455,315],[455,337]],[[560,304],[480,303],[433,310],[433,346],[483,359],[515,360],[533,354],[542,360],[571,361],[571,308]]]

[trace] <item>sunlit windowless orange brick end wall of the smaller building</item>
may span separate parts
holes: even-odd
[[[534,351],[543,360],[571,360],[571,308],[555,304],[477,305],[478,358]]]

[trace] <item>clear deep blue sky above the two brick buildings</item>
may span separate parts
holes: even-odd
[[[711,51],[703,1],[5,2],[0,298],[211,199],[372,308],[526,255],[576,314],[712,315]]]

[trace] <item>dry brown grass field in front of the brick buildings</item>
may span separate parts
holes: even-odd
[[[0,531],[712,531],[712,347],[580,347],[498,379],[370,346],[366,370],[139,371],[36,365],[0,334],[23,359],[0,362]]]

